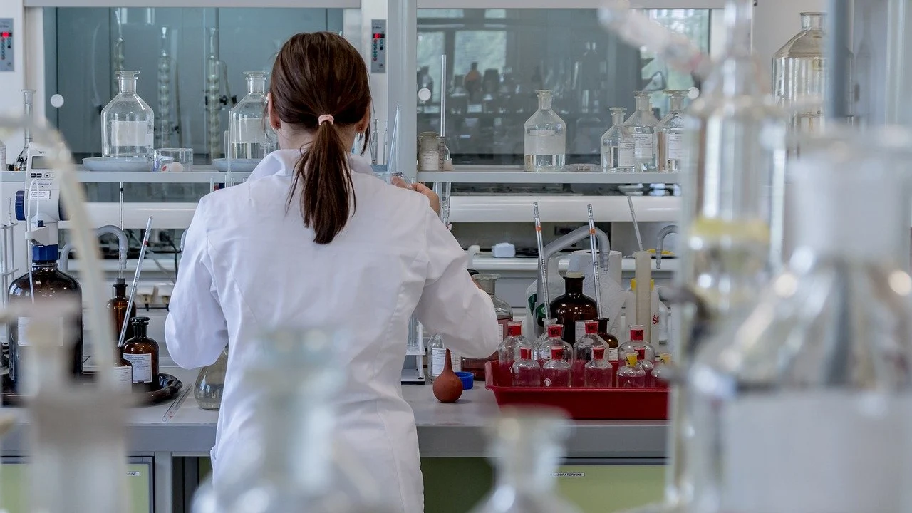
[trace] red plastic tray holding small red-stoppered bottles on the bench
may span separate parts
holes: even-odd
[[[564,409],[571,418],[610,420],[668,419],[668,389],[663,388],[531,388],[501,386],[501,366],[485,363],[484,387],[500,406],[539,404]]]

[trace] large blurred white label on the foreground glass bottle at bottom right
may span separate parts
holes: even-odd
[[[900,511],[909,399],[879,393],[747,396],[721,418],[722,508]],[[762,429],[757,429],[762,426]]]

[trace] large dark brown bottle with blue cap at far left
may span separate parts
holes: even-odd
[[[82,289],[76,278],[57,269],[57,245],[32,246],[31,280],[26,273],[9,287],[10,303],[31,300],[32,291],[36,298],[75,297],[82,304]],[[81,312],[81,308],[80,308]],[[64,343],[70,347],[70,372],[74,376],[82,374],[82,314],[75,319],[67,319],[64,326]],[[15,393],[25,393],[23,387],[24,372],[27,368],[28,346],[26,340],[27,318],[19,318],[7,325],[9,333],[9,374],[4,377],[5,388]]]

